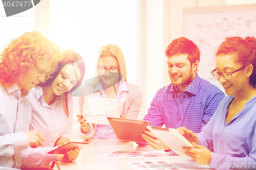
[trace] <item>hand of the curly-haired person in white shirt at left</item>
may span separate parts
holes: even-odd
[[[40,133],[38,130],[32,130],[25,133],[29,138],[29,145],[31,148],[37,148],[45,141],[45,135]]]

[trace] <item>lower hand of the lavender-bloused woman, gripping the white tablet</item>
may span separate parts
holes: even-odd
[[[185,154],[190,156],[198,164],[210,164],[212,153],[202,145],[192,142],[195,148],[183,147]]]

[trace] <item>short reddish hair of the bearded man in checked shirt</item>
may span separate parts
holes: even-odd
[[[198,46],[185,37],[174,39],[165,50],[166,57],[181,54],[187,54],[187,59],[191,65],[197,60],[200,61],[200,50]]]

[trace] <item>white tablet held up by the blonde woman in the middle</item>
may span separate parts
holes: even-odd
[[[85,96],[82,99],[81,115],[87,123],[110,125],[107,117],[120,117],[124,106],[125,100]]]

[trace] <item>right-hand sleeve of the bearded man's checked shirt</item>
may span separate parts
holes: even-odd
[[[200,132],[202,131],[202,128],[209,122],[212,115],[214,115],[215,110],[217,109],[224,97],[225,94],[222,91],[209,96],[209,98],[207,99],[206,108],[204,110]]]

